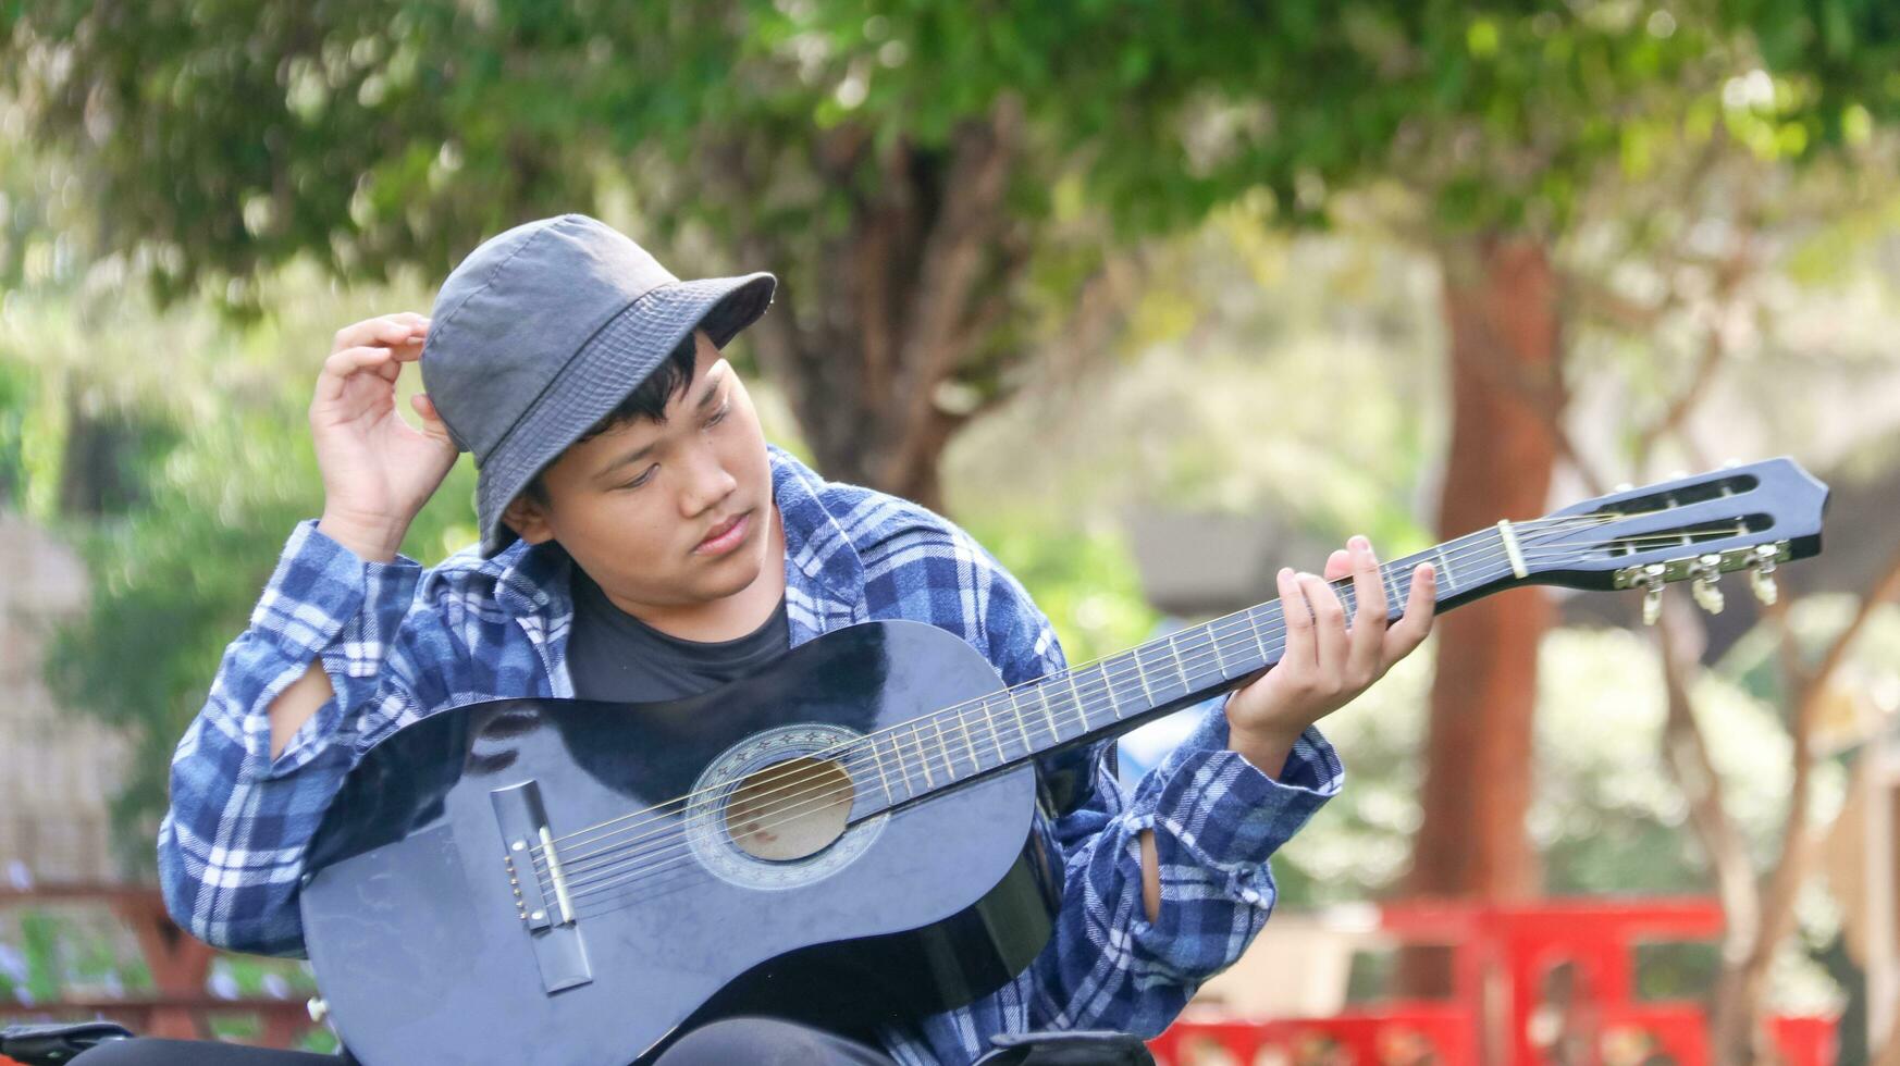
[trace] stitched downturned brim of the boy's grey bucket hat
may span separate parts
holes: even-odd
[[[619,407],[692,331],[705,329],[712,344],[724,348],[766,314],[775,287],[777,279],[764,272],[678,281],[642,295],[608,319],[481,464],[475,515],[483,559],[517,540],[502,523],[502,511],[542,467]]]

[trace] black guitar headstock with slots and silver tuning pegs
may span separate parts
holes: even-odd
[[[1644,589],[1655,619],[1662,585],[1693,581],[1721,610],[1716,581],[1746,570],[1775,600],[1775,566],[1820,553],[1828,486],[1790,458],[1676,477],[1585,500],[1512,526],[1526,580],[1575,589]]]

